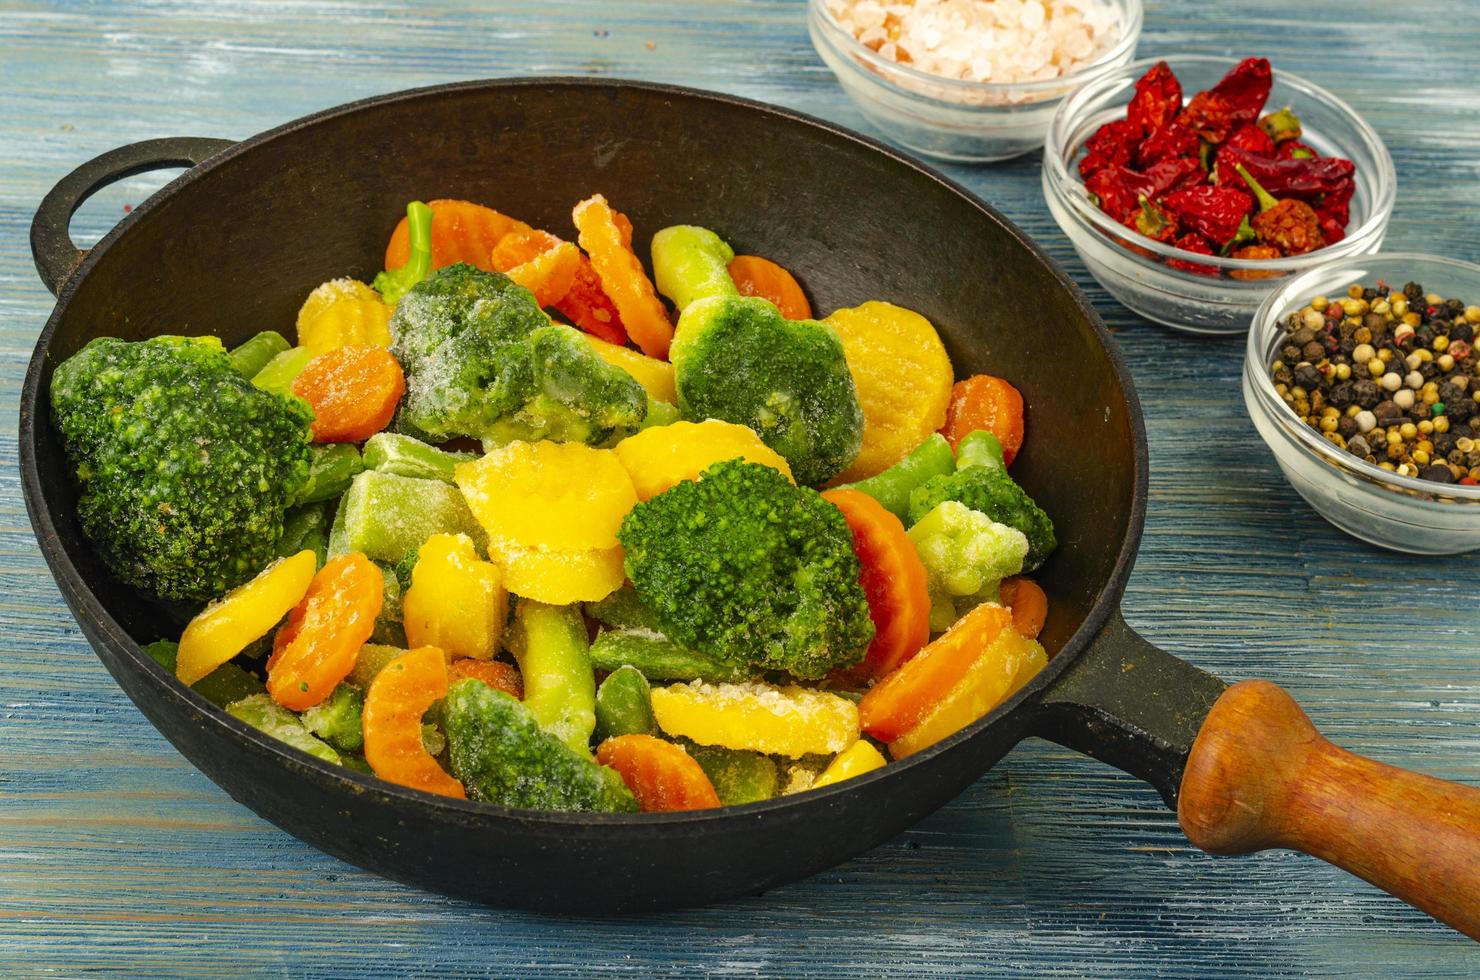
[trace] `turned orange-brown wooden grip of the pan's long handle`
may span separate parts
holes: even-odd
[[[1212,706],[1177,817],[1205,851],[1304,851],[1480,940],[1480,789],[1333,746],[1268,681]]]

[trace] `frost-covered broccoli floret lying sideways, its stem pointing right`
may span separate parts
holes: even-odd
[[[630,435],[647,415],[642,385],[499,272],[438,269],[401,299],[391,336],[406,372],[397,428],[410,435],[596,444]]]

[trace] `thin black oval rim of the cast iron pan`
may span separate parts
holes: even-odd
[[[56,527],[52,521],[50,509],[43,505],[44,493],[40,481],[40,471],[36,460],[36,440],[37,440],[37,407],[41,404],[40,382],[44,372],[46,358],[50,349],[52,339],[61,326],[64,312],[77,292],[83,280],[92,272],[93,266],[101,262],[102,256],[118,241],[129,229],[138,222],[152,213],[166,200],[169,200],[176,191],[192,184],[198,179],[206,178],[222,166],[231,164],[238,155],[252,152],[274,139],[295,133],[300,129],[306,129],[329,120],[340,118],[343,115],[352,115],[355,113],[379,108],[383,105],[392,105],[397,102],[417,101],[425,98],[445,98],[453,95],[460,95],[465,92],[477,90],[518,90],[518,89],[533,89],[533,87],[585,87],[593,90],[639,90],[654,95],[670,95],[682,99],[710,102],[725,107],[741,108],[746,111],[761,113],[773,120],[798,124],[804,129],[810,129],[814,138],[824,136],[847,144],[857,144],[867,151],[881,154],[897,166],[903,166],[912,170],[918,178],[931,181],[944,189],[950,191],[955,197],[961,200],[963,206],[974,207],[983,216],[999,224],[1003,231],[1012,235],[1018,244],[1026,247],[1039,262],[1042,262],[1060,286],[1070,292],[1070,296],[1079,303],[1080,309],[1088,314],[1089,324],[1095,332],[1100,345],[1109,355],[1111,369],[1114,370],[1116,379],[1120,383],[1122,397],[1125,401],[1125,410],[1131,422],[1131,441],[1132,454],[1135,462],[1135,472],[1132,475],[1132,500],[1131,511],[1128,515],[1128,526],[1123,534],[1120,551],[1116,555],[1114,565],[1101,583],[1098,597],[1094,600],[1089,613],[1079,623],[1079,628],[1070,635],[1064,642],[1063,648],[1048,662],[1048,666],[1037,674],[1021,691],[1018,691],[1008,702],[999,705],[996,709],[977,719],[966,728],[955,733],[949,739],[938,742],[928,749],[924,749],[906,759],[891,761],[888,765],[866,773],[863,776],[842,780],[832,786],[826,786],[817,791],[807,791],[802,793],[793,793],[787,796],[777,796],[767,801],[743,804],[737,807],[721,807],[716,810],[694,810],[682,813],[639,813],[639,814],[613,814],[613,813],[562,813],[562,811],[546,811],[546,810],[527,810],[517,807],[503,807],[497,804],[484,804],[472,801],[460,801],[448,796],[440,796],[434,793],[426,793],[416,789],[408,789],[404,786],[397,786],[394,783],[380,780],[373,776],[364,776],[352,770],[346,770],[330,762],[324,762],[314,756],[309,756],[297,749],[271,739],[269,736],[252,728],[250,725],[238,721],[228,715],[223,709],[216,708],[213,703],[207,702],[198,693],[184,685],[175,682],[175,678],[169,675],[163,668],[160,668],[148,654],[144,653],[142,647],[118,625],[118,622],[108,613],[108,610],[98,600],[92,588],[87,585],[81,573],[73,564],[67,549],[61,545],[61,539],[56,533]],[[49,412],[41,413],[40,425],[46,425]],[[64,598],[67,598],[68,605],[73,607],[74,619],[78,620],[78,628],[87,635],[87,629],[83,629],[81,620],[86,616],[95,626],[99,641],[110,645],[115,654],[118,654],[124,662],[130,663],[136,672],[144,674],[149,678],[151,685],[155,688],[157,696],[163,696],[166,700],[173,700],[178,709],[188,709],[197,715],[209,719],[213,725],[223,728],[229,736],[247,742],[253,749],[259,752],[268,752],[278,756],[280,762],[287,764],[293,770],[308,770],[318,777],[317,791],[323,792],[326,789],[324,783],[340,782],[339,792],[352,792],[360,796],[373,795],[377,805],[382,804],[400,804],[400,805],[416,805],[419,808],[431,808],[440,816],[457,820],[457,822],[515,822],[521,825],[549,825],[562,833],[570,833],[571,830],[589,830],[592,833],[611,833],[613,830],[630,830],[642,832],[648,828],[657,830],[670,830],[678,826],[700,826],[712,825],[716,822],[728,822],[734,819],[753,820],[762,814],[773,814],[781,811],[795,811],[798,808],[805,808],[814,804],[823,804],[830,799],[836,799],[845,793],[852,793],[861,791],[864,786],[872,785],[878,780],[891,779],[892,776],[903,774],[906,770],[928,765],[941,755],[953,751],[987,728],[998,727],[1006,722],[1012,716],[1027,716],[1036,703],[1040,700],[1042,694],[1054,685],[1058,677],[1069,669],[1069,666],[1077,662],[1089,648],[1092,640],[1101,632],[1107,620],[1116,613],[1120,604],[1120,598],[1125,592],[1126,582],[1131,576],[1131,570],[1135,564],[1137,551],[1140,548],[1141,536],[1146,526],[1146,508],[1147,508],[1147,484],[1148,484],[1148,454],[1146,441],[1146,422],[1141,413],[1141,401],[1135,389],[1129,367],[1125,363],[1123,354],[1119,345],[1114,342],[1109,329],[1104,326],[1098,311],[1085,296],[1083,290],[1069,277],[1064,268],[1049,256],[1032,237],[1027,235],[1017,224],[1008,219],[1005,215],[998,212],[992,204],[989,204],[981,197],[975,195],[966,189],[959,182],[947,178],[938,170],[913,160],[903,152],[885,145],[884,142],[864,136],[861,133],[852,132],[847,127],[838,126],[827,120],[792,110],[787,107],[778,107],[756,99],[749,99],[744,96],[728,95],[722,92],[712,92],[690,86],[676,86],[653,81],[641,81],[633,78],[591,78],[580,75],[521,75],[521,77],[505,77],[505,78],[480,78],[466,80],[454,83],[443,83],[432,86],[420,86],[414,89],[403,89],[397,92],[389,92],[383,95],[369,96],[364,99],[357,99],[352,102],[345,102],[342,105],[334,105],[308,115],[290,120],[281,126],[263,130],[255,136],[234,144],[232,147],[216,154],[210,160],[191,167],[185,173],[179,175],[160,191],[151,195],[147,201],[135,207],[123,221],[120,221],[114,228],[108,231],[96,246],[87,250],[86,258],[77,266],[77,269],[68,277],[62,289],[56,295],[56,303],[52,314],[47,317],[46,324],[41,327],[37,336],[36,346],[31,352],[31,358],[27,367],[25,380],[21,391],[19,403],[19,459],[21,459],[21,483],[27,503],[27,512],[31,520],[33,530],[36,533],[37,545],[46,558],[47,567],[52,576],[56,579],[58,588],[62,591]],[[92,637],[89,637],[92,641]],[[96,651],[95,651],[96,654]],[[145,712],[147,715],[147,712]],[[148,715],[147,715],[148,716]],[[152,724],[152,719],[151,719]],[[1026,730],[1026,724],[1020,728]],[[192,762],[194,765],[194,762]],[[990,768],[990,767],[989,767]],[[983,770],[984,773],[986,770]],[[978,774],[980,777],[980,774]]]

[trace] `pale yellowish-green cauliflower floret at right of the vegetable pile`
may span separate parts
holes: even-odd
[[[909,530],[929,582],[931,629],[998,598],[998,583],[1023,570],[1027,536],[956,500],[944,500]]]

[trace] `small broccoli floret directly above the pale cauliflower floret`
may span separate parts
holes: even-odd
[[[966,440],[972,435],[977,434],[972,432]],[[1054,523],[1033,503],[1023,487],[1012,483],[1012,477],[1000,463],[1000,454],[992,453],[998,441],[990,435],[987,438],[990,443],[981,440],[971,447],[968,447],[966,440],[962,440],[956,453],[956,472],[934,477],[910,493],[910,524],[918,524],[937,505],[956,500],[998,524],[1023,531],[1029,545],[1023,571],[1033,571],[1048,561],[1049,554],[1058,545],[1054,539]],[[1000,447],[998,452],[1000,453]]]

